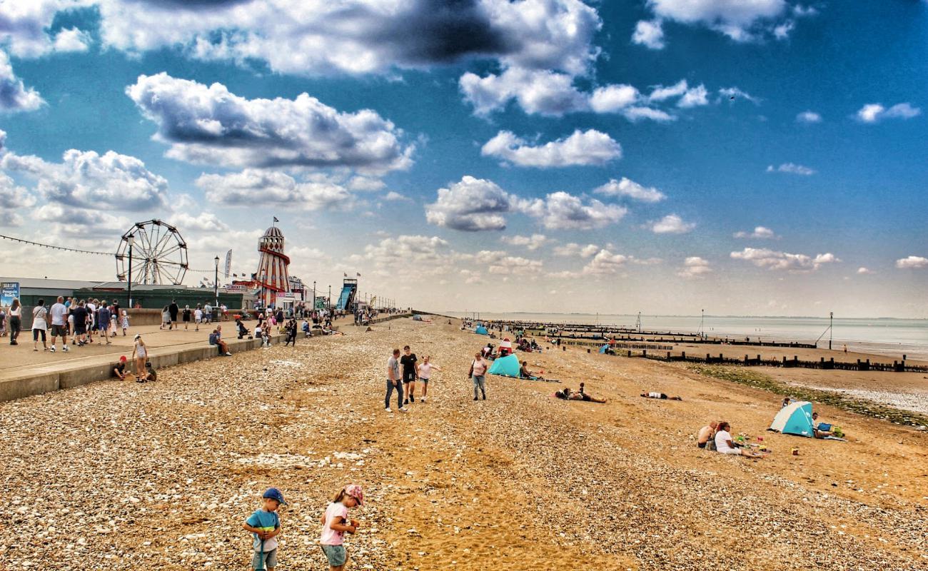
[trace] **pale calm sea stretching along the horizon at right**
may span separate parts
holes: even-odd
[[[538,321],[544,323],[585,323],[637,327],[638,314],[586,313],[481,313],[445,312],[452,317]],[[710,337],[751,337],[761,341],[816,343],[827,349],[872,353],[887,357],[928,360],[928,319],[897,318],[778,318],[738,316],[657,316],[641,315],[641,331],[705,331]],[[831,331],[829,324],[831,323]]]

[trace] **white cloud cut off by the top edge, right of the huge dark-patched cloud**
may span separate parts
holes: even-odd
[[[650,0],[648,6],[659,19],[706,26],[736,42],[754,41],[765,33],[782,38],[790,30],[784,27],[785,0]]]

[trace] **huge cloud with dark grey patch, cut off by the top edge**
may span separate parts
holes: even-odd
[[[599,16],[579,0],[98,1],[111,47],[178,46],[195,58],[256,59],[284,73],[389,74],[466,58],[578,73],[599,54]]]

